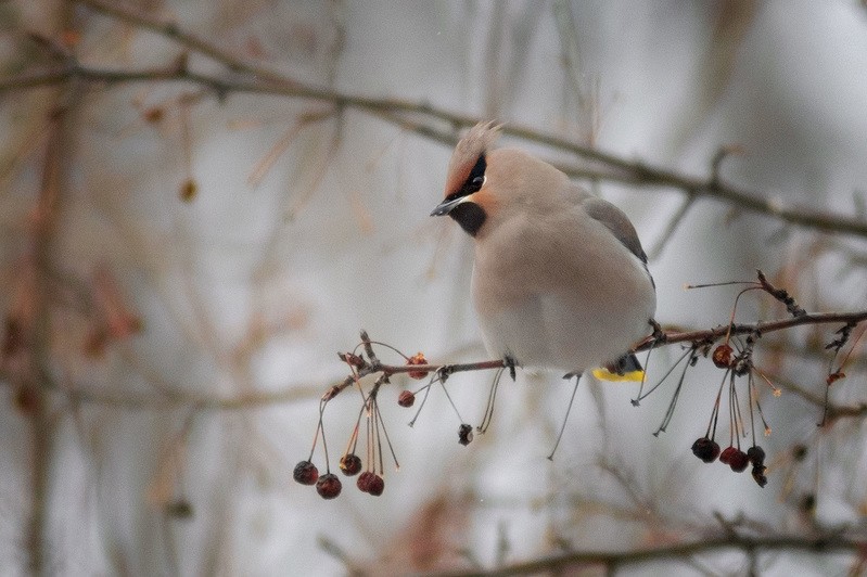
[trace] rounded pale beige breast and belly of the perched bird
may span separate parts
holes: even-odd
[[[655,292],[613,236],[538,228],[476,243],[473,300],[492,355],[564,372],[614,360],[650,332]],[[509,234],[511,232],[511,234]]]

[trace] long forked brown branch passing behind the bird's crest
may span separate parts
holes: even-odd
[[[59,70],[23,74],[12,78],[0,79],[0,93],[12,89],[58,84],[72,77],[111,84],[138,81],[193,82],[211,88],[219,98],[226,97],[230,92],[244,92],[330,102],[336,107],[352,107],[373,114],[400,126],[405,130],[411,130],[448,145],[454,145],[457,142],[457,128],[472,126],[481,120],[475,116],[455,113],[426,103],[362,97],[330,88],[305,85],[260,64],[241,59],[189,31],[182,30],[171,21],[155,18],[123,3],[110,3],[104,0],[67,1],[87,5],[97,12],[165,36],[189,50],[221,63],[231,72],[244,73],[250,75],[251,78],[221,78],[196,74],[188,70],[186,65],[157,70],[107,70],[74,64]],[[405,117],[406,115],[421,116],[425,121],[412,121],[409,117]],[[448,130],[437,129],[430,124],[432,121],[448,123],[450,128]],[[640,161],[627,161],[615,154],[539,132],[528,127],[509,124],[503,127],[502,132],[574,154],[583,158],[585,163],[592,165],[552,163],[573,178],[614,181],[633,187],[672,188],[680,190],[693,198],[714,198],[735,205],[743,210],[767,215],[791,225],[828,233],[844,233],[867,238],[867,221],[864,219],[813,210],[802,206],[786,205],[778,198],[765,197],[766,195],[763,195],[760,191],[725,183],[718,174],[719,154],[711,161],[709,177],[694,177]]]

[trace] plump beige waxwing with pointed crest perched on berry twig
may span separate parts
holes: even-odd
[[[629,351],[652,331],[656,292],[635,228],[548,163],[492,150],[498,129],[479,124],[458,143],[431,213],[475,241],[472,293],[488,352],[566,376],[641,380]]]

